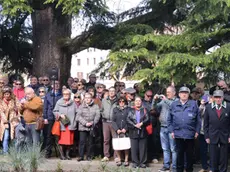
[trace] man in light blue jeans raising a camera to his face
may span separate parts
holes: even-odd
[[[155,95],[154,100],[161,100],[159,103],[156,104],[156,110],[160,113],[160,123],[161,123],[161,130],[160,130],[160,139],[161,139],[161,147],[163,149],[163,156],[164,156],[164,165],[159,170],[159,172],[163,171],[170,171],[170,156],[172,152],[172,171],[176,172],[176,143],[175,140],[172,138],[171,134],[168,131],[167,126],[167,119],[169,114],[169,109],[172,102],[178,100],[176,98],[176,90],[173,86],[169,86],[166,89],[166,96],[164,95]]]

